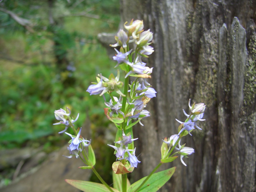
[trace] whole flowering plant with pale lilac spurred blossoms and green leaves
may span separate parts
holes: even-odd
[[[187,119],[184,122],[176,119],[180,123],[178,134],[174,134],[168,139],[164,138],[160,148],[161,159],[159,164],[147,177],[130,185],[127,174],[139,166],[138,163],[141,163],[135,154],[136,147],[134,147],[134,141],[136,142],[138,138],[134,139],[132,127],[137,123],[143,126],[143,119],[150,116],[145,108],[150,99],[156,97],[156,91],[147,81],[148,78],[151,78],[153,68],[147,67],[146,63],[142,61],[142,58],[147,58],[148,55],[154,52],[153,47],[150,46],[153,33],[150,32],[150,29],[147,31],[143,30],[144,25],[141,20],[132,20],[129,25],[126,24],[127,22],[124,24],[126,31],[120,29],[115,37],[116,44],[110,45],[111,47],[115,47],[117,53],[113,57],[117,61],[116,67],[124,71],[124,83],[120,81],[120,71],[117,70],[116,77],[111,74],[107,78],[99,74],[96,77],[97,82],[92,83],[87,89],[90,95],[98,94],[103,96],[105,105],[107,106],[107,108],[104,108],[104,113],[116,126],[116,140],[108,144],[109,147],[114,149],[114,154],[116,155],[116,162],[112,164],[114,188],[108,186],[94,168],[96,160],[92,146],[90,145],[91,140],[84,139],[81,136],[81,128],[75,129],[74,127],[73,123],[76,122],[79,114],[73,120],[70,117],[71,111],[69,108],[67,108],[67,111],[59,109],[54,112],[56,119],[60,121],[55,123],[55,125],[65,125],[65,130],[59,133],[65,132],[68,127],[71,127],[74,132],[74,135],[65,132],[71,137],[68,147],[70,156],[65,157],[71,158],[75,156],[76,158],[80,158],[86,166],[79,168],[92,169],[102,183],[66,180],[69,184],[82,191],[157,191],[171,178],[176,167],[155,173],[156,170],[162,164],[174,161],[178,155],[180,155],[181,163],[187,166],[183,161],[183,157],[194,153],[194,149],[185,147],[185,144],[181,145],[181,138],[188,134],[191,135],[191,132],[195,128],[201,130],[197,122],[205,120],[202,119],[205,110],[204,103],[194,103],[191,106],[189,99],[188,106],[190,113],[187,114],[183,109]],[[134,77],[133,79],[135,79],[130,84],[129,77]],[[105,99],[105,95],[109,95],[109,101]],[[174,149],[176,152],[174,152]]]

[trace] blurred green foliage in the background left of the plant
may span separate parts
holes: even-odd
[[[0,148],[31,140],[45,148],[63,145],[62,127],[52,124],[54,110],[66,106],[71,116],[80,113],[77,126],[107,127],[103,98],[86,89],[98,73],[114,71],[96,35],[117,31],[119,1],[12,0],[1,9]],[[20,25],[6,10],[31,25]]]

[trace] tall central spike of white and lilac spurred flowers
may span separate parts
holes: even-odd
[[[124,30],[120,29],[115,37],[116,44],[110,45],[116,51],[116,55],[113,56],[113,60],[117,62],[115,68],[120,67],[124,71],[125,82],[119,80],[120,72],[117,70],[116,77],[111,74],[106,78],[99,74],[99,77],[96,77],[97,83],[92,83],[87,89],[91,95],[102,96],[105,93],[110,95],[109,102],[105,101],[108,108],[104,111],[108,119],[115,123],[119,132],[123,130],[123,140],[116,141],[115,146],[109,146],[115,148],[116,160],[123,160],[123,164],[125,164],[124,160],[128,160],[131,167],[137,167],[140,161],[135,156],[136,148],[130,145],[135,139],[131,139],[132,136],[126,136],[125,133],[129,132],[136,123],[143,126],[141,120],[150,116],[145,107],[151,98],[156,97],[155,89],[147,81],[151,78],[153,68],[147,67],[146,63],[142,62],[143,57],[147,58],[154,52],[153,47],[150,46],[153,33],[150,29],[143,28],[142,20],[132,20],[128,25],[126,22]],[[131,45],[132,49],[129,49]],[[129,84],[131,76],[135,77],[135,80]],[[124,92],[121,92],[123,86]],[[119,95],[119,99],[112,94]]]

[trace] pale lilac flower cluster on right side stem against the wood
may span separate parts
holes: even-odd
[[[198,122],[198,121],[205,121],[205,119],[202,119],[203,116],[204,116],[204,110],[205,110],[204,103],[197,103],[197,104],[194,103],[192,106],[190,106],[190,99],[189,99],[188,100],[188,107],[191,110],[189,115],[183,109],[184,115],[188,117],[185,120],[185,122],[181,122],[178,119],[176,119],[176,121],[178,121],[180,123],[180,126],[178,128],[179,133],[172,135],[168,140],[163,140],[164,143],[166,143],[170,147],[174,147],[175,149],[178,150],[176,153],[180,154],[180,161],[185,166],[187,166],[187,165],[184,163],[182,158],[184,156],[187,157],[188,155],[191,155],[192,153],[194,153],[194,149],[190,148],[190,147],[184,147],[185,144],[181,146],[180,145],[181,137],[183,137],[183,136],[185,136],[187,134],[192,136],[192,134],[190,132],[193,129],[195,129],[195,127],[197,129],[199,129],[199,130],[202,130],[200,127],[197,126],[196,122]],[[179,148],[177,148],[177,145],[179,146]],[[168,158],[169,155],[170,154],[165,156],[165,158]],[[163,157],[163,155],[162,155],[162,157]]]

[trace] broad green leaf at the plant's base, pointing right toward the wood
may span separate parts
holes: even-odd
[[[154,173],[147,181],[146,183],[140,188],[140,192],[156,192],[158,189],[160,189],[173,175],[175,172],[176,167],[172,167],[170,169],[160,171],[157,173]],[[140,184],[146,179],[147,177],[143,177],[142,179],[136,181],[133,183],[129,188],[128,192],[132,192],[135,189],[137,189]]]

